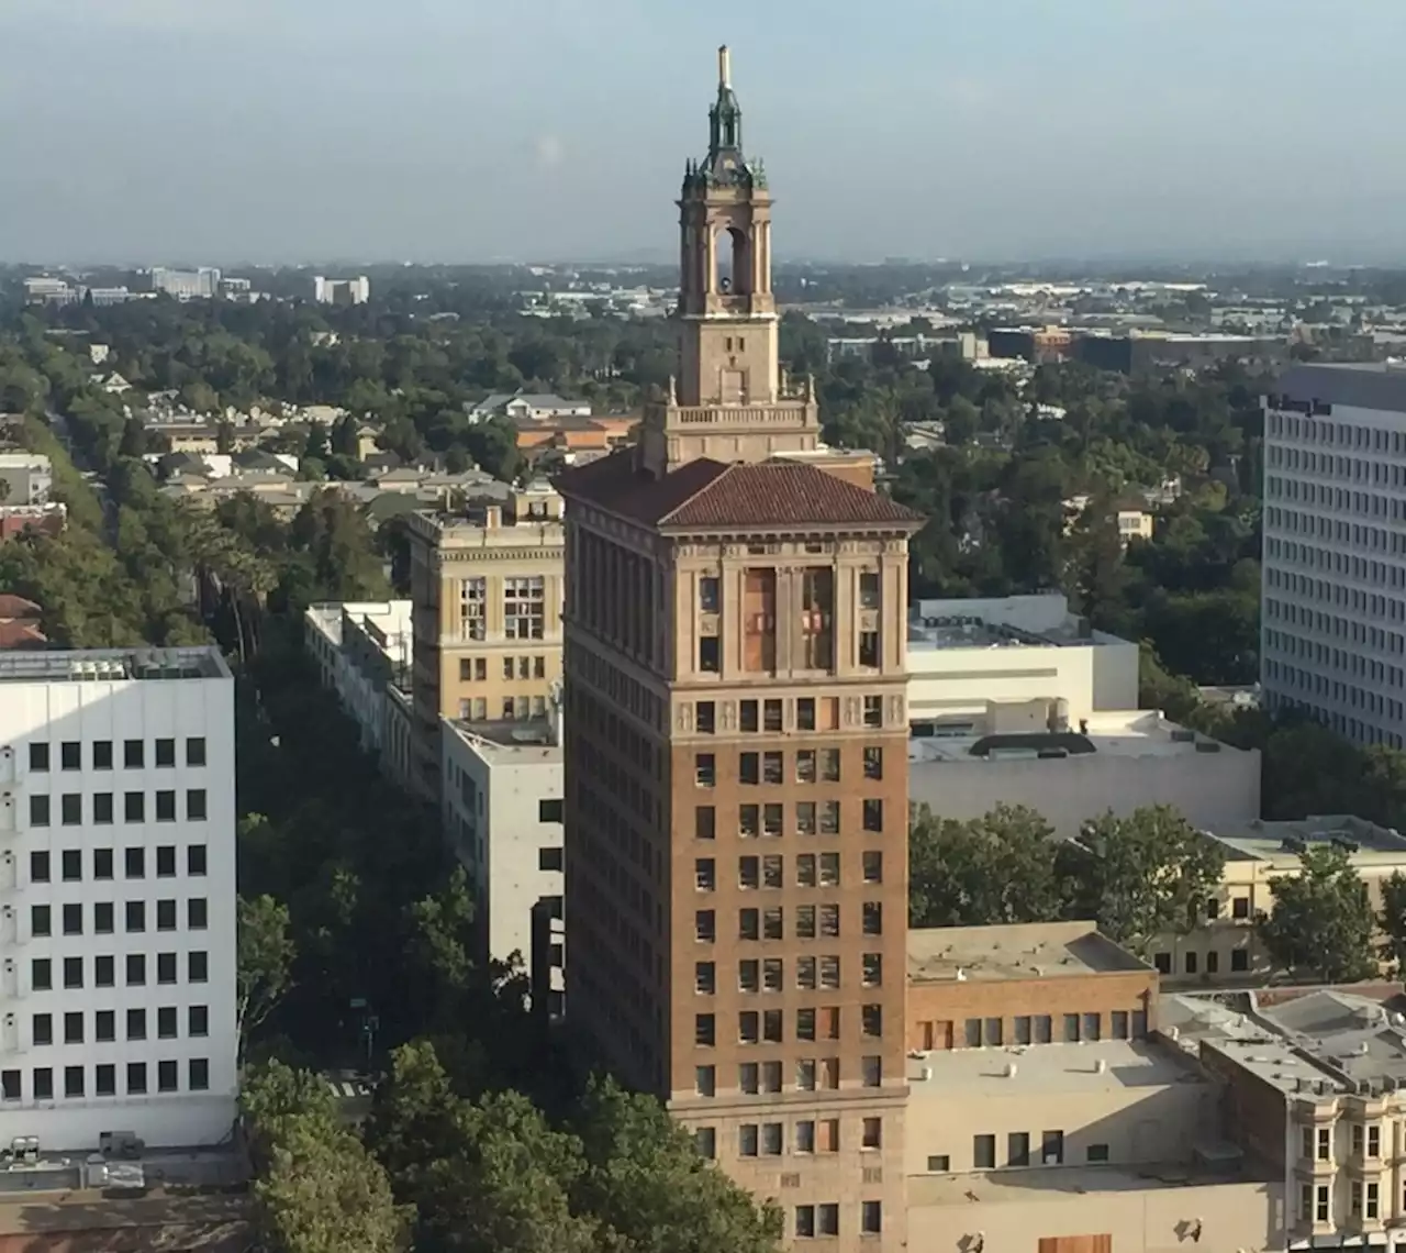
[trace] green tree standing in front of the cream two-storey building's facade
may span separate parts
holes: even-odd
[[[1353,983],[1378,972],[1372,952],[1375,915],[1367,885],[1337,847],[1299,854],[1299,873],[1270,885],[1274,908],[1258,934],[1275,965],[1319,983]]]

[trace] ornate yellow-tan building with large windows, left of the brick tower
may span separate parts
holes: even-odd
[[[418,779],[437,800],[441,719],[547,716],[561,681],[561,498],[534,482],[506,503],[412,513],[406,532]]]

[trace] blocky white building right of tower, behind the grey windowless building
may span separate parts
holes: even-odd
[[[1069,612],[1057,592],[918,600],[908,615],[908,720],[974,730],[995,705],[1042,702],[1043,727],[1137,707],[1137,645]]]

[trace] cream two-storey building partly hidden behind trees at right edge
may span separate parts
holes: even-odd
[[[1406,875],[1406,837],[1350,814],[1310,814],[1294,821],[1215,824],[1202,831],[1225,852],[1220,889],[1206,917],[1187,935],[1161,937],[1152,960],[1180,984],[1263,983],[1272,963],[1256,934],[1256,921],[1274,910],[1274,883],[1299,873],[1309,848],[1340,848],[1367,883],[1372,908],[1381,908],[1382,883]]]

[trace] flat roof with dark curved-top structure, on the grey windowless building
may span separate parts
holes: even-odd
[[[1010,758],[1191,757],[1197,752],[1237,752],[1208,735],[1181,727],[1156,710],[1095,710],[1074,731],[1019,731],[960,735],[921,735],[908,741],[908,761],[1001,761]]]

